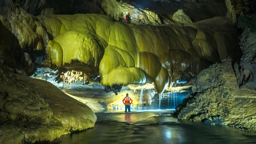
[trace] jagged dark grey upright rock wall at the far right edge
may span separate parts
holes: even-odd
[[[255,40],[255,23],[256,17],[245,16],[252,19],[251,23],[246,23],[243,17],[239,19],[239,26],[244,28],[244,31],[240,37],[240,48],[243,52],[241,56],[240,64],[236,64],[236,75],[238,78],[238,84],[240,87],[246,87],[256,90],[256,40]],[[245,22],[245,23],[244,23]]]

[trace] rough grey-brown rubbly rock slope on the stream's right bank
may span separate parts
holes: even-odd
[[[256,91],[238,88],[230,59],[200,72],[193,84],[192,94],[176,107],[175,116],[256,132]]]

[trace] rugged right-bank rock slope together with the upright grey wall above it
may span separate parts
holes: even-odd
[[[252,19],[249,24],[246,22],[248,18]],[[254,25],[253,15],[239,18],[238,26],[244,29],[239,43],[241,59],[226,59],[201,71],[193,80],[192,94],[176,107],[174,116],[256,132]],[[236,56],[239,58],[239,53]]]

